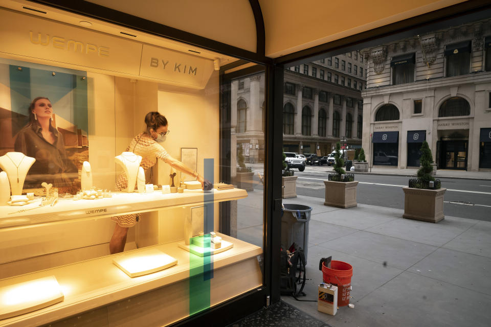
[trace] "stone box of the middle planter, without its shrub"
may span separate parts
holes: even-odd
[[[358,180],[352,182],[334,182],[325,180],[326,199],[324,205],[337,206],[340,208],[349,208],[357,206],[356,203],[356,185]]]

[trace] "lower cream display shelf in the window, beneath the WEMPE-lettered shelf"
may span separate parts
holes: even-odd
[[[212,260],[213,269],[216,272],[215,277],[218,277],[218,271],[233,266],[237,267],[234,269],[240,269],[244,276],[251,276],[253,273],[248,272],[248,269],[250,269],[247,268],[249,267],[248,265],[237,265],[250,262],[250,260],[256,260],[255,257],[262,253],[262,249],[256,245],[219,233],[217,234],[223,240],[233,243],[234,247],[213,255]],[[180,248],[178,246],[180,242],[181,241],[176,241],[125,252],[128,254],[138,254],[138,251],[144,253],[154,249],[167,253],[178,262],[177,265],[167,269],[138,277],[128,276],[113,263],[115,256],[108,255],[72,265],[3,279],[0,281],[0,290],[3,287],[12,284],[55,276],[64,294],[64,300],[47,308],[0,320],[0,326],[34,326],[45,324],[53,320],[59,320],[79,314],[80,312],[102,307],[125,298],[187,281],[192,277],[191,272],[199,271],[199,269],[196,270],[192,268],[195,267],[196,263],[199,265],[200,261],[192,259],[198,257]],[[201,264],[203,264],[203,259],[201,259]],[[234,278],[231,276],[227,276],[223,280],[233,281],[233,279]],[[260,281],[255,283],[259,283],[259,285],[251,285],[248,288],[254,289],[255,287],[260,286]],[[233,284],[235,285],[237,283]],[[244,284],[246,283],[244,282]],[[188,284],[185,283],[185,285]],[[249,289],[244,289],[243,292],[248,291]],[[189,290],[187,292],[189,292]],[[223,298],[222,301],[226,299],[227,298]]]

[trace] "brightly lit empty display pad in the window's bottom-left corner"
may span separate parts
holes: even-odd
[[[0,288],[0,319],[51,306],[63,297],[55,276]]]

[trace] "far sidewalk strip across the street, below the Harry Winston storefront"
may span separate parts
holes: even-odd
[[[264,164],[248,164],[252,167],[253,171],[264,171]],[[306,166],[305,171],[308,172],[309,167],[318,166]],[[322,166],[326,171],[331,171],[332,166]],[[362,172],[350,172],[354,174],[366,174],[366,175],[400,175],[400,176],[416,176],[416,168],[407,169],[397,169],[397,168],[382,168],[382,167],[372,167],[372,169],[367,173]],[[461,178],[461,179],[491,179],[491,171],[480,171],[480,172],[468,172],[465,170],[449,170],[449,169],[439,169],[436,171],[436,178]]]

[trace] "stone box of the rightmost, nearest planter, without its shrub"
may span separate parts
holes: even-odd
[[[403,188],[403,218],[437,223],[443,220],[443,195],[447,189],[423,190]]]

